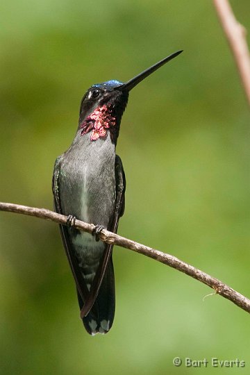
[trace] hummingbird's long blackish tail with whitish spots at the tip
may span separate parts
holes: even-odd
[[[80,310],[83,299],[77,293]],[[113,325],[115,317],[115,275],[112,256],[103,276],[101,288],[90,313],[83,318],[83,324],[90,335],[107,333]]]

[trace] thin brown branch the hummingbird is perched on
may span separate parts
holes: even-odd
[[[20,213],[24,215],[40,217],[41,219],[51,220],[52,222],[56,222],[58,224],[67,224],[67,216],[54,213],[53,211],[46,210],[44,208],[34,208],[28,206],[20,206],[12,203],[0,202],[0,211]],[[85,222],[81,222],[80,220],[76,220],[75,227],[80,231],[92,233],[95,226],[94,224],[88,224]],[[108,244],[115,244],[119,247],[125,247],[126,249],[136,251],[137,253],[141,253],[145,256],[148,256],[149,258],[158,260],[158,262],[164,263],[169,267],[178,269],[178,271],[181,271],[184,274],[191,276],[192,278],[196,278],[198,281],[201,281],[201,283],[208,285],[210,288],[213,288],[217,294],[226,299],[229,299],[230,301],[235,303],[235,305],[250,313],[249,299],[236,292],[232,288],[228,287],[228,285],[222,283],[222,281],[219,281],[217,278],[205,274],[205,272],[202,272],[200,269],[197,269],[192,265],[183,262],[175,256],[163,253],[162,251],[151,249],[151,247],[147,247],[143,244],[139,244],[138,242],[128,240],[127,238],[106,231],[105,229],[101,231],[100,239]]]

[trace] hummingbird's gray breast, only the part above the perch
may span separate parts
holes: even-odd
[[[108,226],[115,206],[115,146],[110,140],[78,136],[60,169],[60,198],[65,215]]]

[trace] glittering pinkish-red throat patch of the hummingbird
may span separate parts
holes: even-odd
[[[81,124],[81,135],[92,131],[90,140],[94,141],[98,138],[106,138],[108,128],[116,125],[116,118],[112,116],[112,104],[104,104],[97,107]]]

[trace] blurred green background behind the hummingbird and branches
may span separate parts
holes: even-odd
[[[250,32],[249,0],[231,4]],[[0,18],[0,200],[53,209],[53,164],[85,90],[184,49],[131,92],[119,233],[250,296],[249,110],[212,1],[3,0]],[[0,241],[1,374],[249,373],[249,315],[203,301],[213,291],[192,278],[115,248],[115,323],[92,338],[58,226],[1,213]],[[247,367],[216,370],[211,357]]]

